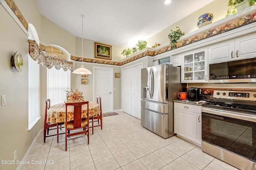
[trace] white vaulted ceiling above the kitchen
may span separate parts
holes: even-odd
[[[40,14],[76,37],[133,47],[213,0],[36,0]]]

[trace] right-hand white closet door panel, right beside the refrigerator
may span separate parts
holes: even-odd
[[[131,111],[132,116],[140,119],[140,75],[142,64],[131,68]]]

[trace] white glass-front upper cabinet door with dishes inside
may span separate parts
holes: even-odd
[[[207,82],[208,51],[202,49],[182,54],[182,83]]]

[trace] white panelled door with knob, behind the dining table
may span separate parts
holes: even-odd
[[[94,100],[101,97],[102,112],[113,111],[113,68],[94,67]]]

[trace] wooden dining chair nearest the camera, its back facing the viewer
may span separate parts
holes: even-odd
[[[87,118],[82,118],[82,105],[87,104]],[[74,119],[68,121],[68,106],[74,106]],[[65,134],[66,134],[66,150],[67,138],[74,135],[86,134],[89,145],[89,102],[66,103],[66,119],[65,119]],[[72,133],[72,130],[83,129]],[[68,133],[69,131],[69,133]]]

